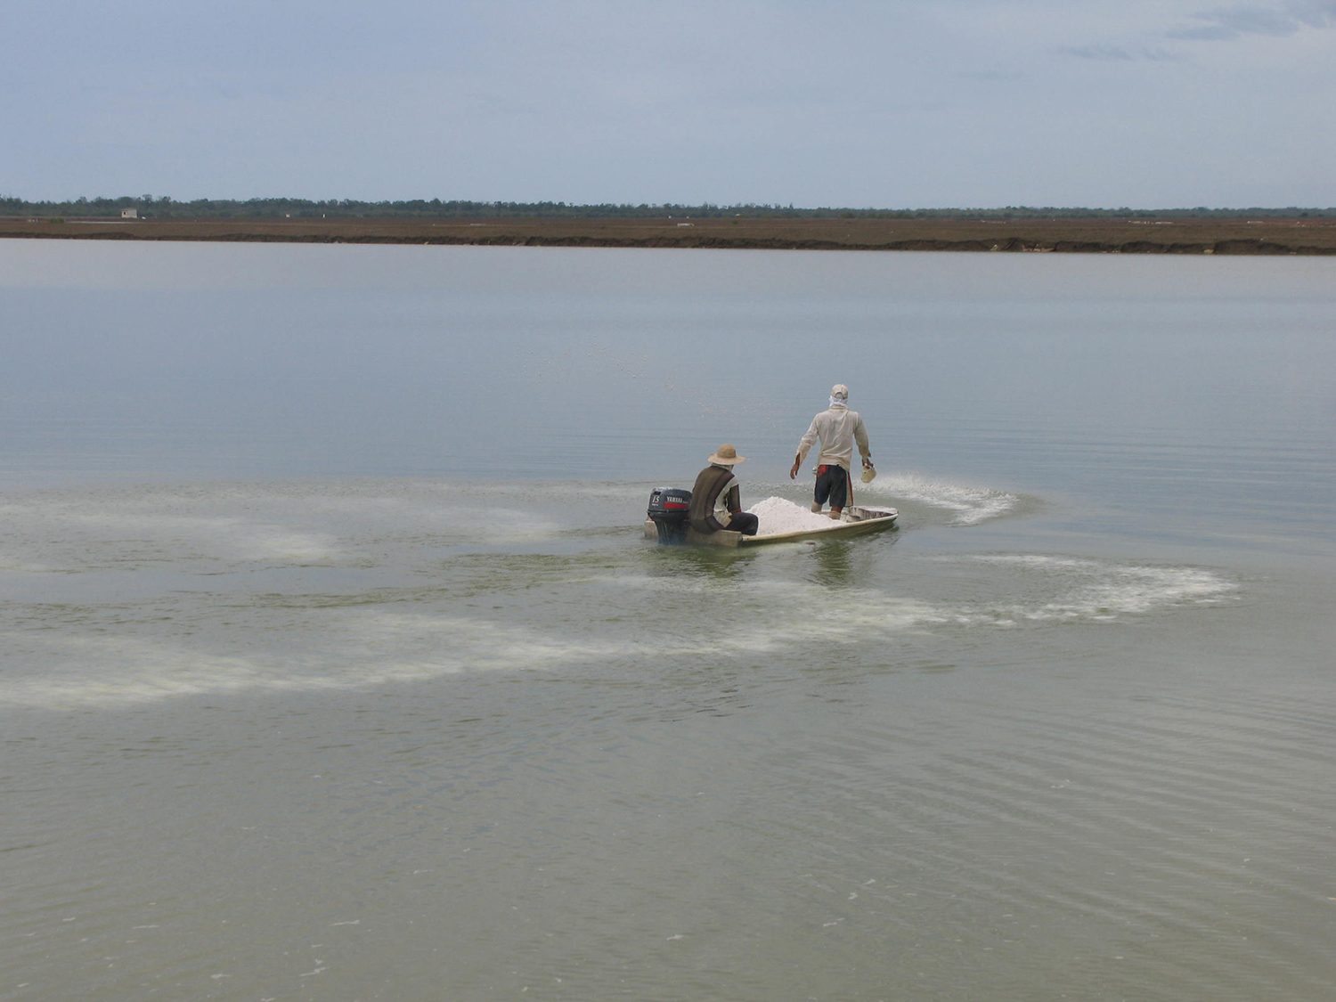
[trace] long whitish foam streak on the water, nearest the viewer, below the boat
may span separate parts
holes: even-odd
[[[1037,554],[941,560],[998,568],[991,588],[1003,589],[1002,600],[933,603],[854,588],[832,595],[814,582],[775,580],[754,581],[739,592],[729,578],[609,574],[585,578],[584,585],[596,591],[580,607],[611,613],[607,621],[568,619],[558,628],[440,611],[341,609],[337,619],[311,612],[305,621],[286,620],[283,628],[303,637],[297,652],[235,653],[202,649],[206,641],[188,637],[23,632],[0,636],[0,644],[23,651],[36,671],[8,679],[0,704],[118,707],[183,696],[374,688],[462,672],[755,656],[814,643],[887,643],[943,628],[1100,623],[1217,603],[1237,591],[1224,577],[1190,566]],[[657,628],[652,619],[632,631],[616,625],[628,603],[643,607],[636,592],[653,592],[681,607],[671,617],[677,625]],[[1025,597],[1006,600],[1018,593]],[[605,595],[603,603],[599,595]],[[695,627],[683,631],[684,619]],[[271,627],[239,624],[242,637],[255,636],[258,643],[266,643]],[[228,636],[224,643],[235,640]]]

